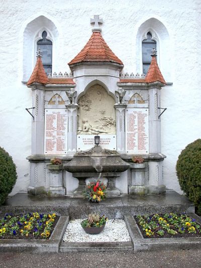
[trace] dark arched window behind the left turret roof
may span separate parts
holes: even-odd
[[[47,39],[47,32],[42,33],[42,38],[37,42],[37,50],[40,48],[43,52],[42,62],[45,72],[52,73],[52,41]]]

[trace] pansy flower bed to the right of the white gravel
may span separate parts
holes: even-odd
[[[200,224],[185,213],[136,216],[135,219],[144,238],[201,236]]]

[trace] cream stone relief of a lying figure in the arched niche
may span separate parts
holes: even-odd
[[[115,100],[102,85],[91,86],[78,100],[78,134],[116,134]]]

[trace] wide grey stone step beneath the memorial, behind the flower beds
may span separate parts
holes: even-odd
[[[39,197],[17,194],[0,207],[0,214],[26,212],[57,213],[69,215],[70,219],[86,218],[89,213],[105,214],[109,219],[124,219],[124,215],[144,215],[155,213],[194,213],[194,206],[185,196],[174,191],[161,195],[144,197],[122,196],[107,198],[100,203],[92,203],[83,198]]]

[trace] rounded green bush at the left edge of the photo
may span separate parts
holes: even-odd
[[[17,180],[16,165],[12,157],[0,147],[0,205],[4,204]]]

